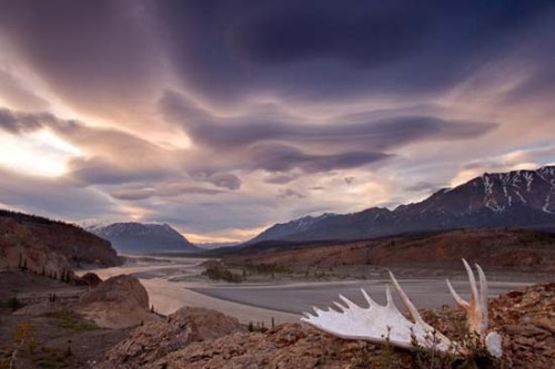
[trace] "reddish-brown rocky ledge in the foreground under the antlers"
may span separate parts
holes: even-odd
[[[502,360],[478,368],[553,368],[555,284],[537,285],[491,300],[491,327],[503,336]],[[460,310],[423,311],[452,338],[464,331]],[[474,362],[476,363],[476,362]],[[111,368],[476,368],[454,358],[335,338],[306,325],[284,324],[249,332],[218,311],[183,308],[164,321],[137,328],[95,366]]]

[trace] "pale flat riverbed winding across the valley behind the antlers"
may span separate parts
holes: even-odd
[[[364,288],[376,301],[383,304],[385,287],[389,285],[385,268],[372,269],[367,266],[353,266],[353,277],[350,279],[333,278],[330,273],[324,279],[304,278],[303,271],[293,277],[291,274],[278,274],[273,278],[254,276],[240,284],[215,281],[200,277],[205,262],[198,258],[163,257],[93,271],[103,279],[118,274],[132,274],[138,277],[149,291],[151,304],[158,312],[164,315],[182,306],[205,307],[233,316],[245,324],[261,321],[266,326],[272,318],[276,322],[299,321],[302,311],[310,310],[312,306],[330,306],[337,299],[339,294],[362,304],[360,288]],[[365,268],[362,274],[364,279],[356,278],[361,275],[361,268]],[[418,308],[433,308],[441,305],[453,306],[445,277],[452,279],[454,287],[463,296],[467,296],[466,275],[462,265],[458,269],[397,267],[393,271]],[[486,269],[486,275],[491,281],[491,297],[549,280],[549,276],[545,274],[511,270],[490,273]]]

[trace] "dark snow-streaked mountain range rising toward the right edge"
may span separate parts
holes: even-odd
[[[456,228],[555,229],[555,166],[484,173],[426,199],[390,211],[305,216],[275,224],[246,244],[268,240],[352,240]]]

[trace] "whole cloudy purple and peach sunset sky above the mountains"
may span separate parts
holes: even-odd
[[[0,9],[0,207],[240,242],[555,163],[553,1]]]

